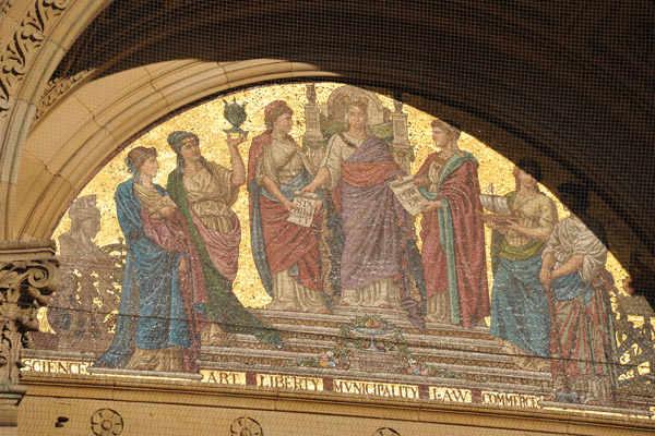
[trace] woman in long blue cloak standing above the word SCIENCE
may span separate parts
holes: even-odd
[[[154,148],[128,155],[134,177],[118,185],[127,258],[114,341],[96,367],[196,372],[206,289],[195,245],[164,187]]]

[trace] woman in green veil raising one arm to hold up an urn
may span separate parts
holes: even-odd
[[[168,143],[178,156],[178,166],[168,175],[168,192],[184,218],[198,250],[207,288],[207,315],[214,328],[209,340],[224,344],[216,331],[254,335],[262,343],[282,347],[279,334],[248,312],[233,292],[237,276],[241,226],[231,210],[238,186],[245,183],[245,168],[237,145],[246,140],[228,137],[233,170],[207,161],[200,141],[190,132],[177,131]]]

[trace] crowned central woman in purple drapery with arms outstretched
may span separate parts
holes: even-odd
[[[388,183],[404,175],[386,144],[369,134],[368,100],[344,97],[345,129],[332,136],[313,181],[302,192],[320,186],[332,191],[343,222],[341,259],[342,305],[405,307],[422,326],[418,306],[409,298],[408,216]]]

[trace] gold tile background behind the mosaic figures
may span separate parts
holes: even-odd
[[[317,101],[319,104],[325,102],[330,94],[340,86],[342,86],[342,84],[317,83]],[[265,106],[276,99],[286,100],[295,112],[295,125],[290,134],[300,144],[305,133],[303,105],[307,101],[305,94],[305,85],[289,84],[262,86],[229,94],[223,98],[231,101],[233,97],[235,97],[237,101],[246,102],[248,120],[241,125],[241,129],[250,132],[249,140],[263,133],[265,130]],[[392,98],[380,94],[378,96],[385,108],[390,111],[394,110]],[[159,171],[155,182],[164,186],[166,185],[168,173],[176,167],[176,155],[168,146],[166,138],[170,132],[176,130],[186,130],[195,133],[201,142],[202,154],[207,160],[215,161],[228,168],[230,167],[229,154],[227,153],[227,145],[225,143],[225,133],[223,131],[224,129],[229,129],[230,124],[223,117],[223,111],[225,109],[223,98],[217,98],[213,101],[189,109],[143,134],[143,136],[139,137],[134,143],[130,144],[111,159],[111,161],[109,161],[82,190],[80,196],[96,194],[97,206],[102,211],[100,232],[95,239],[97,245],[102,246],[118,242],[120,238],[123,238],[116,217],[114,193],[116,186],[130,177],[126,171],[123,160],[127,157],[128,152],[133,147],[142,145],[155,147],[158,150]],[[436,150],[431,140],[430,126],[433,117],[408,106],[405,106],[403,110],[408,114],[407,129],[409,142],[414,147],[416,156],[416,159],[412,165],[412,172],[415,173],[420,168],[425,158]],[[250,141],[240,145],[241,156],[243,157],[246,167],[248,167],[249,146]],[[490,184],[495,187],[495,194],[502,195],[514,190],[512,162],[466,133],[462,134],[460,146],[461,148],[471,152],[480,164],[479,181],[483,193],[487,193],[487,186]],[[541,186],[541,190],[556,201],[560,219],[564,218],[567,213],[563,211],[561,204],[557,201],[555,195],[544,186]],[[246,186],[241,187],[239,198],[235,205],[235,211],[241,220],[242,239],[239,255],[239,272],[235,279],[234,292],[245,306],[263,307],[270,301],[270,296],[261,286],[250,251],[250,217]],[[52,238],[57,240],[62,233],[67,232],[69,228],[70,219],[67,214],[55,230]],[[419,229],[417,229],[417,231]],[[490,235],[491,232],[487,229],[487,246],[489,246]],[[489,256],[488,265],[489,289],[491,289],[493,277],[491,276]],[[627,274],[611,254],[608,257],[607,269],[612,274],[617,286],[622,288],[621,283],[627,278]]]

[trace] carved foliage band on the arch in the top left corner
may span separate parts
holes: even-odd
[[[72,0],[37,0],[0,57],[0,113],[13,104],[13,87],[27,71],[29,58],[46,38],[52,19]]]

